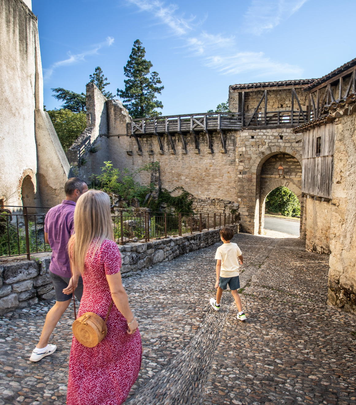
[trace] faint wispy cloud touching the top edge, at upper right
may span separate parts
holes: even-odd
[[[307,0],[252,0],[244,15],[246,29],[252,34],[261,35],[288,19],[305,2]]]

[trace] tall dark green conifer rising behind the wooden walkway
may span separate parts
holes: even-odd
[[[125,90],[117,89],[117,96],[124,99],[124,106],[134,118],[152,117],[161,115],[161,112],[155,108],[163,108],[161,101],[157,100],[156,94],[161,94],[164,86],[157,72],[152,72],[150,77],[150,68],[153,64],[144,57],[146,51],[140,40],[136,39],[131,55],[124,66]]]

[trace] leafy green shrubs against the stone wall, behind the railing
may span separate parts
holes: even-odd
[[[143,171],[149,172],[151,170],[157,170],[159,168],[159,162],[148,163],[138,168],[136,171],[131,172],[125,168],[123,171],[114,168],[114,165],[108,161],[104,162],[102,173],[99,176],[91,176],[91,179],[99,185],[100,190],[105,192],[112,192],[119,194],[124,200],[131,200],[131,198],[138,198],[140,204],[144,202],[146,195],[153,191],[154,184],[150,186],[140,185],[135,180],[135,176]]]

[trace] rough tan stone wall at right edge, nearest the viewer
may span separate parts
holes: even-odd
[[[356,116],[336,119],[328,302],[356,312]]]

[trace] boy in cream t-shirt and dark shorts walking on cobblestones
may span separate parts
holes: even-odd
[[[233,230],[231,228],[222,228],[220,230],[220,238],[224,243],[218,247],[215,254],[215,259],[217,260],[215,288],[218,291],[216,292],[216,299],[210,298],[210,305],[215,311],[220,310],[220,299],[223,295],[223,290],[226,290],[227,284],[229,284],[231,294],[235,298],[235,303],[239,310],[237,319],[246,321],[246,315],[242,311],[241,299],[237,292],[237,289],[240,288],[239,259],[243,263],[244,258],[237,244],[230,242],[233,238]]]

